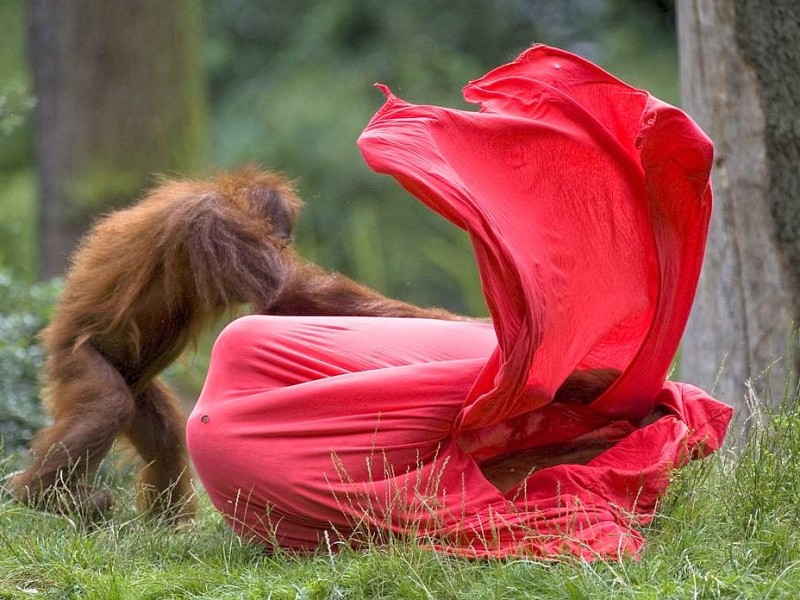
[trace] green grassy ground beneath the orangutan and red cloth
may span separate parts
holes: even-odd
[[[241,543],[207,502],[197,523],[172,532],[143,521],[131,502],[89,528],[3,500],[0,599],[796,598],[798,458],[792,402],[755,425],[738,451],[677,474],[639,560],[592,564],[467,561],[402,540],[269,556]]]

